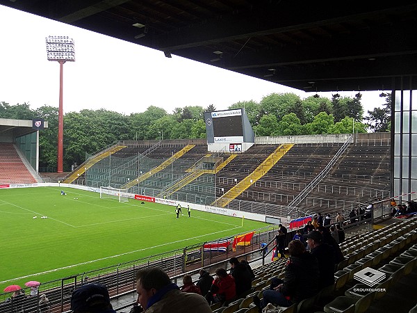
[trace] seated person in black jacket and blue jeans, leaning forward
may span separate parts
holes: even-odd
[[[263,298],[254,296],[254,303],[263,309],[268,303],[290,307],[318,292],[318,263],[301,241],[288,243],[290,257],[284,270],[284,280],[275,280],[273,290],[264,290]]]

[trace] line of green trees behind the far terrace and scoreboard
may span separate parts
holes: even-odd
[[[350,134],[353,131],[390,131],[391,94],[380,95],[382,104],[363,117],[361,93],[332,99],[313,95],[305,99],[293,93],[272,93],[261,101],[231,104],[227,109],[245,108],[256,136],[311,134]],[[382,108],[382,109],[381,109]],[[116,141],[147,139],[206,138],[204,112],[216,111],[213,105],[185,106],[172,113],[157,106],[145,112],[124,115],[105,109],[69,112],[64,115],[64,170],[85,161],[85,154],[95,154]],[[44,118],[49,127],[40,131],[40,168],[56,168],[58,107],[0,102],[0,118],[32,120]]]

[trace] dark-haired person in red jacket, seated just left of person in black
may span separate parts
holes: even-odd
[[[232,275],[227,274],[224,268],[215,270],[217,276],[213,280],[210,291],[206,294],[209,304],[232,300],[236,296],[236,284]]]

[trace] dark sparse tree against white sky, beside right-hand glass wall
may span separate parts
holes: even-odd
[[[368,111],[368,116],[364,118],[374,133],[391,131],[391,93],[381,93],[379,97],[385,98],[382,108]]]

